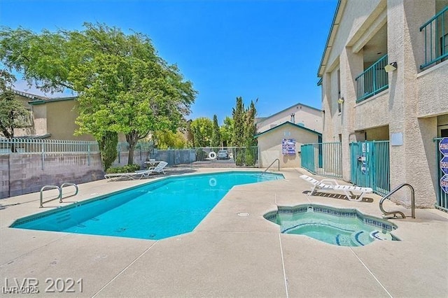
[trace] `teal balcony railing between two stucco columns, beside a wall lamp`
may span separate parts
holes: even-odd
[[[386,65],[387,55],[384,55],[356,77],[356,102],[363,101],[388,88],[388,76],[384,70]]]

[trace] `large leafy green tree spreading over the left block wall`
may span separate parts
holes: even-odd
[[[0,31],[0,59],[45,91],[78,92],[78,133],[98,141],[123,133],[134,148],[149,132],[183,125],[196,91],[176,65],[158,56],[144,34],[104,24],[83,31]]]

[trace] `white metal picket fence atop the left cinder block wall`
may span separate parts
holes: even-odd
[[[0,153],[99,152],[96,141],[46,140],[29,138],[0,139]]]

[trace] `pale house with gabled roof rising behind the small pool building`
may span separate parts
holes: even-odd
[[[265,118],[257,118],[257,133],[265,132],[284,122],[292,122],[308,129],[322,132],[322,111],[304,104],[295,104]]]

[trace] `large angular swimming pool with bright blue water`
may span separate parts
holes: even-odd
[[[11,227],[164,239],[193,231],[233,186],[278,179],[283,176],[240,171],[168,177],[21,218]]]

